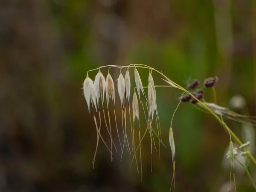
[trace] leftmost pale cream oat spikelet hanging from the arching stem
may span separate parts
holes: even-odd
[[[83,91],[84,91],[84,98],[87,103],[89,113],[90,113],[90,103],[91,102],[93,102],[94,107],[97,111],[96,90],[95,90],[95,87],[93,84],[93,80],[91,80],[90,77],[88,77],[88,76],[84,80]]]

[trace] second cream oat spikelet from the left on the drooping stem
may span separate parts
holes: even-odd
[[[105,95],[105,87],[106,87],[106,81],[101,72],[97,73],[95,79],[94,79],[94,86],[96,90],[96,99],[97,104],[99,107],[99,98],[102,98],[102,106],[104,108],[104,95]]]

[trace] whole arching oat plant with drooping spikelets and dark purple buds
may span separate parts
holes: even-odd
[[[100,72],[101,68],[108,67],[108,74],[105,79],[104,75]],[[121,106],[119,108],[115,105],[115,84],[112,79],[112,76],[110,74],[110,68],[118,68],[120,73],[117,81],[117,92],[120,99]],[[122,70],[125,71],[125,77],[122,74]],[[99,70],[98,74],[96,75],[94,82],[89,78],[89,73]],[[129,70],[134,70],[134,79],[130,79],[130,73]],[[148,85],[143,86],[140,73],[141,71],[148,71]],[[153,76],[157,75],[160,76],[161,79],[163,79],[163,85],[155,85]],[[135,82],[134,89],[131,89],[131,81]],[[232,119],[237,122],[250,124],[250,125],[256,125],[256,118],[253,116],[245,116],[241,115],[239,113],[235,113],[233,111],[230,111],[226,107],[222,107],[217,105],[217,97],[215,92],[215,85],[218,82],[218,77],[210,77],[204,80],[203,87],[200,88],[200,82],[195,79],[190,84],[187,84],[186,88],[180,86],[179,84],[175,83],[171,79],[169,79],[165,74],[163,74],[161,71],[156,70],[152,67],[149,67],[147,65],[143,64],[131,64],[128,66],[116,66],[116,65],[108,65],[108,66],[102,66],[98,67],[93,70],[87,71],[86,79],[84,80],[83,84],[83,92],[84,92],[84,98],[87,102],[89,113],[93,113],[93,120],[95,122],[96,127],[96,150],[93,157],[93,167],[96,160],[96,154],[99,144],[99,138],[104,143],[105,147],[108,149],[111,155],[111,161],[113,160],[113,147],[115,148],[116,152],[118,151],[116,148],[116,145],[113,141],[113,135],[111,131],[111,117],[110,117],[110,99],[112,98],[113,102],[113,112],[114,112],[114,119],[116,124],[116,132],[120,144],[121,153],[124,152],[124,146],[126,146],[127,151],[131,154],[133,154],[132,162],[135,159],[137,171],[139,172],[138,168],[138,161],[137,161],[137,151],[139,150],[140,153],[140,175],[141,180],[143,179],[143,171],[142,171],[142,157],[141,157],[141,143],[143,141],[143,138],[148,133],[150,136],[151,141],[151,171],[152,171],[152,163],[153,163],[153,145],[154,148],[157,150],[155,138],[158,139],[158,151],[159,151],[159,158],[160,158],[160,146],[163,145],[166,147],[162,141],[162,134],[161,134],[161,127],[160,127],[160,115],[157,110],[157,88],[158,87],[170,87],[175,88],[181,91],[182,95],[179,98],[179,103],[177,105],[177,108],[175,109],[171,125],[169,128],[169,143],[170,143],[170,151],[172,153],[172,163],[173,163],[173,175],[171,180],[171,187],[170,191],[175,190],[175,137],[174,132],[175,128],[172,127],[172,121],[174,119],[175,112],[177,111],[179,105],[181,103],[189,103],[190,105],[194,106],[198,110],[211,114],[223,127],[224,131],[227,132],[227,134],[230,136],[230,144],[229,144],[229,151],[227,153],[227,157],[230,161],[230,189],[235,189],[236,191],[236,182],[235,182],[235,161],[237,161],[241,166],[244,167],[245,172],[247,173],[253,187],[256,190],[256,185],[253,181],[253,178],[250,175],[250,172],[247,168],[247,162],[250,161],[254,166],[256,166],[256,159],[253,157],[253,154],[247,149],[248,145],[250,144],[250,141],[242,142],[239,137],[236,136],[236,134],[228,127],[228,125],[224,122],[225,118]],[[167,83],[167,84],[166,84]],[[146,95],[147,90],[148,94]],[[131,108],[130,108],[130,93],[134,90],[132,100],[131,100]],[[204,98],[204,92],[205,91],[212,91],[212,94],[214,96],[214,102],[207,102]],[[106,93],[106,94],[105,94]],[[105,100],[106,95],[106,100]],[[99,99],[102,101],[102,109],[99,107]],[[105,107],[104,104],[107,103],[107,111],[108,111],[108,122],[105,115]],[[143,134],[143,137],[141,137],[141,126],[140,126],[140,112],[139,112],[139,105],[143,108],[143,113],[145,117],[146,122],[146,128]],[[91,110],[92,109],[92,110]],[[121,111],[122,114],[122,128],[119,128],[116,121],[116,110]],[[110,146],[107,145],[104,138],[101,135],[101,127],[102,127],[102,120],[101,120],[101,113],[100,111],[103,111],[105,126],[108,131],[108,135],[110,137]],[[132,111],[132,119],[131,119],[131,111]],[[129,116],[126,114],[129,112]],[[99,118],[97,119],[96,114]],[[129,121],[127,120],[127,117],[129,117]],[[137,121],[136,121],[137,119]],[[131,138],[128,138],[128,127],[130,123],[131,127]],[[113,127],[113,126],[112,126]],[[120,130],[121,129],[121,130]],[[143,128],[144,129],[144,128]],[[136,131],[137,130],[137,131]],[[123,133],[123,141],[121,141],[119,131]],[[139,135],[139,141],[135,140],[135,135]],[[130,142],[129,142],[130,141]],[[240,155],[245,158],[244,164],[236,158],[237,148],[233,147],[233,143],[236,143],[236,145],[240,145],[239,151]],[[136,145],[137,144],[137,145]],[[131,147],[130,147],[131,146]],[[122,159],[121,154],[121,159]],[[233,183],[234,186],[232,186],[232,177],[233,177]]]

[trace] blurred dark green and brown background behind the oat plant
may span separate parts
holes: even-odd
[[[202,85],[205,78],[218,76],[218,104],[256,115],[255,0],[1,0],[0,191],[169,191],[169,125],[181,94],[174,88],[157,88],[167,148],[161,146],[160,160],[153,151],[151,172],[147,134],[142,144],[143,181],[131,154],[125,150],[120,161],[119,150],[111,163],[102,142],[92,166],[96,129],[81,90],[87,70],[136,63],[162,70],[182,86],[189,79]],[[148,70],[139,72],[146,85]],[[106,76],[107,69],[102,73]],[[111,74],[115,80],[119,70],[111,69]],[[96,72],[89,75],[94,79]],[[156,73],[153,77],[155,84],[165,84]],[[230,102],[238,95],[235,104]],[[213,101],[210,90],[205,98]],[[113,108],[110,112],[119,146]],[[121,131],[117,96],[116,113]],[[141,108],[140,118],[143,132]],[[254,145],[253,127],[230,120],[227,124]],[[229,137],[218,122],[183,104],[173,129],[175,191],[228,191],[229,166],[224,159]],[[110,144],[105,126],[102,135]],[[255,180],[255,167],[249,169]],[[242,169],[237,168],[236,180],[238,191],[253,191]]]

